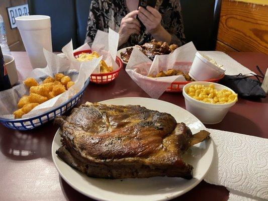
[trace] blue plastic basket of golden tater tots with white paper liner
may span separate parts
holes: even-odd
[[[8,128],[30,130],[73,108],[90,82],[100,59],[73,64],[44,50],[47,67],[36,68],[21,84],[0,92],[0,122]]]

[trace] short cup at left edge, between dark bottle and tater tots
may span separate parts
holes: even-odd
[[[9,75],[10,83],[13,86],[19,80],[15,60],[14,60],[14,57],[11,55],[4,54],[3,56],[4,56],[4,62],[5,62],[5,66],[7,69],[7,73]]]

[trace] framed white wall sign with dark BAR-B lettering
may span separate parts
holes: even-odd
[[[16,6],[16,7],[9,7],[7,8],[10,20],[11,29],[17,27],[15,18],[20,16],[29,16],[29,7],[28,4]]]

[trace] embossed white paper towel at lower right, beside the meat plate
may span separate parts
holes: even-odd
[[[209,129],[214,160],[204,178],[225,186],[229,200],[268,200],[268,139]]]

